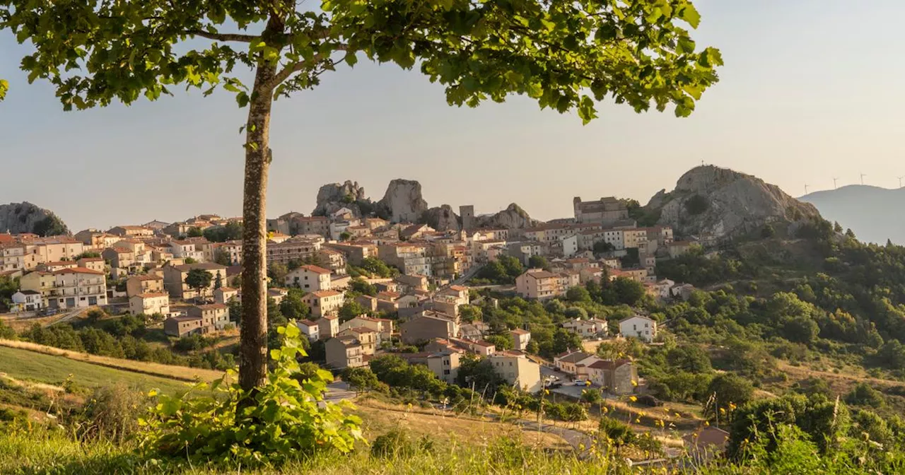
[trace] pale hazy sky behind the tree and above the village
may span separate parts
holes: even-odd
[[[516,202],[540,219],[572,197],[646,203],[700,161],[776,183],[792,195],[905,176],[901,0],[699,0],[695,39],[726,66],[690,119],[605,105],[575,115],[526,98],[446,105],[418,71],[358,62],[316,90],[279,100],[271,132],[268,215],[310,213],[318,187],[357,180],[374,199],[415,179],[430,205],[492,213]],[[74,231],[195,214],[241,214],[245,110],[228,93],[179,93],[126,108],[63,112],[28,85],[29,50],[0,33],[0,203],[30,201]]]

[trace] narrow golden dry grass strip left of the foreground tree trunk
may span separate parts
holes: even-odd
[[[147,363],[144,361],[111,358],[109,356],[89,355],[87,353],[80,353],[77,351],[64,350],[54,347],[45,347],[43,345],[37,345],[35,343],[29,343],[26,341],[0,339],[0,347],[24,349],[42,353],[44,355],[62,356],[74,361],[90,363],[91,365],[106,366],[110,368],[131,371],[133,373],[140,373],[143,375],[162,376],[170,379],[177,379],[180,381],[193,382],[197,379],[204,381],[213,381],[214,379],[218,379],[224,375],[223,372],[210,369],[190,368],[187,366],[169,366],[161,365],[158,363]]]

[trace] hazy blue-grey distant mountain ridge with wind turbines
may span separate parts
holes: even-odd
[[[814,204],[829,221],[850,228],[862,242],[905,244],[905,188],[847,185],[816,191],[799,200]]]

